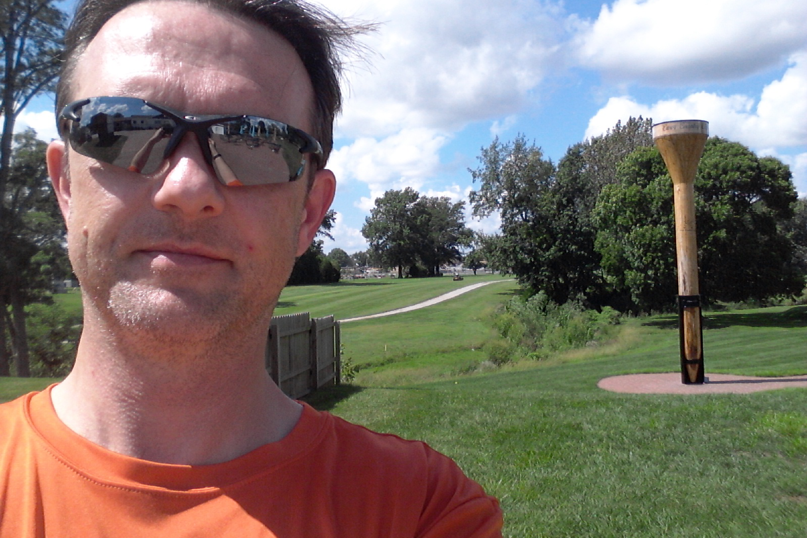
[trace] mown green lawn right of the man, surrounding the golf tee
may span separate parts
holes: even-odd
[[[286,290],[282,301],[345,318],[427,298],[420,283],[435,286],[432,295],[454,286],[449,279],[400,281],[368,286],[359,297],[351,296],[365,291],[358,286],[341,297],[349,286],[332,286],[330,296],[312,286]],[[504,536],[807,534],[807,390],[633,395],[597,388],[609,375],[677,371],[672,315],[629,319],[600,347],[475,372],[495,337],[487,317],[514,287],[498,282],[421,311],[345,323],[345,357],[362,370],[353,385],[310,401],[454,457],[500,498]],[[396,302],[374,304],[372,293]],[[709,313],[704,350],[707,376],[807,373],[807,307]],[[28,390],[9,386],[16,381],[0,380],[0,398]]]

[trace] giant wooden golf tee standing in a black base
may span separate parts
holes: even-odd
[[[678,257],[678,315],[681,381],[704,382],[703,332],[695,239],[695,173],[709,137],[709,122],[700,119],[656,123],[653,140],[672,177],[675,202],[675,252]]]

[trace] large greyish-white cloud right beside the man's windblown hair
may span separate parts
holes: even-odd
[[[372,69],[349,74],[340,136],[406,127],[458,130],[520,111],[554,57],[565,24],[531,0],[331,0],[340,15],[383,23],[365,38]]]

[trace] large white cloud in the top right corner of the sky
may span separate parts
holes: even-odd
[[[663,85],[745,77],[805,45],[803,0],[617,0],[576,40],[582,65]]]

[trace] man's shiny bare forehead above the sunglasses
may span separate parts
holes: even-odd
[[[207,6],[170,0],[135,4],[115,15],[86,49],[76,75],[76,98],[134,95],[200,114],[261,113],[249,105],[256,94],[281,101],[313,96],[302,61],[280,35]],[[203,110],[206,99],[220,102],[215,98],[224,94],[236,102],[244,97],[248,110]]]

